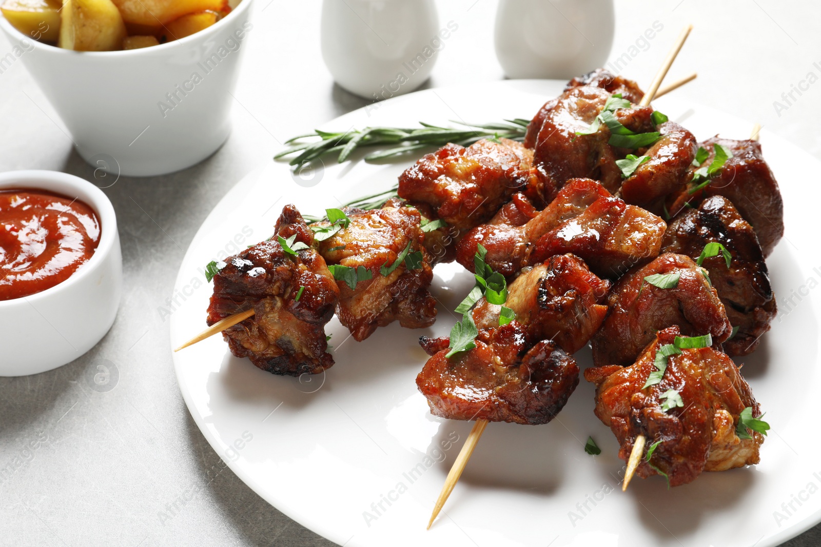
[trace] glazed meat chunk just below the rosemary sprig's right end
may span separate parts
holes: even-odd
[[[436,219],[464,233],[487,222],[527,185],[533,151],[510,139],[447,144],[399,177],[399,196],[430,207]],[[433,219],[432,219],[433,220]]]

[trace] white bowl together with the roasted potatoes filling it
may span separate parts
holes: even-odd
[[[253,0],[0,0],[0,28],[92,166],[162,175],[231,130]]]

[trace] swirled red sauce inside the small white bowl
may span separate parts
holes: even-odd
[[[0,190],[0,300],[67,280],[99,240],[99,219],[85,203],[45,190]]]

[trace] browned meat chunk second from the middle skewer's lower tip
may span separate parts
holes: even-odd
[[[549,339],[576,353],[602,325],[609,289],[610,282],[596,277],[580,258],[557,255],[517,277],[504,305],[516,313],[530,344]],[[479,300],[473,310],[476,327],[498,326],[501,308]]]

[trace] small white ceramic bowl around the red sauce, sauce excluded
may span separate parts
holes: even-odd
[[[122,254],[114,207],[102,190],[57,171],[0,173],[0,189],[48,190],[94,209],[100,240],[74,275],[50,289],[0,300],[0,376],[50,371],[80,357],[108,332],[122,292]]]

